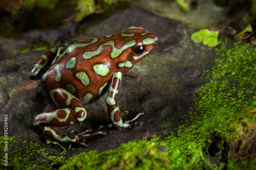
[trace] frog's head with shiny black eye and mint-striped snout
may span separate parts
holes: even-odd
[[[158,43],[158,38],[155,34],[147,32],[139,26],[129,27],[122,31],[120,36],[126,42],[124,45],[126,46],[126,50],[124,50],[126,61],[120,63],[119,67],[133,67],[134,64],[150,55]]]

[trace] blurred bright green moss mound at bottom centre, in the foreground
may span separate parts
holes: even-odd
[[[154,167],[154,168],[153,168]],[[168,159],[154,143],[131,141],[101,153],[90,151],[74,155],[59,169],[167,169]]]

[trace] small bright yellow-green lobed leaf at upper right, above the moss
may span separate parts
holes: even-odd
[[[219,31],[210,31],[208,29],[201,29],[191,35],[191,40],[196,43],[203,41],[204,45],[210,47],[216,46],[218,44]]]

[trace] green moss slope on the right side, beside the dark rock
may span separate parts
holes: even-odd
[[[218,136],[221,139],[218,147],[222,149],[224,141],[243,140],[245,132],[256,121],[255,114],[249,113],[256,107],[256,48],[235,43],[235,47],[227,49],[224,44],[221,41],[216,48],[220,58],[216,59],[212,71],[207,70],[203,76],[211,80],[196,91],[195,112],[188,114],[194,119],[192,125],[180,126],[177,134],[171,133],[164,140],[153,139],[167,146],[170,168],[221,169],[224,167],[224,163],[219,166],[221,153],[209,156],[203,152],[206,143]],[[252,167],[255,159],[246,162],[229,160],[228,166]]]

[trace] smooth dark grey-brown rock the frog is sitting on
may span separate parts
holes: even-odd
[[[69,22],[57,30],[37,32],[36,36],[50,38],[54,42],[67,42],[67,39],[73,36],[80,40],[119,33],[132,25],[139,25],[159,38],[155,51],[128,72],[129,75],[139,76],[140,79],[124,77],[117,95],[117,103],[123,113],[122,118],[131,119],[137,112],[144,111],[145,114],[138,119],[143,125],[121,131],[105,129],[107,135],[97,135],[87,139],[86,143],[90,144],[90,147],[84,150],[101,152],[117,148],[123,142],[142,140],[155,132],[161,134],[160,125],[167,120],[172,120],[173,128],[184,124],[189,107],[193,107],[194,90],[204,84],[200,80],[200,74],[214,64],[216,56],[214,49],[192,42],[191,31],[184,25],[140,8],[127,9],[114,15],[107,13],[92,15],[79,23]],[[27,36],[33,34],[35,35],[35,32]],[[16,42],[13,40],[12,43]],[[34,88],[17,91],[20,85],[30,82],[28,71],[44,52],[10,56],[2,50],[0,114],[1,117],[8,114],[9,135],[22,136],[24,140],[32,141],[42,139],[42,144],[46,147],[58,148],[54,144],[46,144],[46,137],[32,126],[36,114],[55,107],[42,88],[41,80],[36,81],[38,86]],[[95,103],[85,106],[88,116],[81,125],[65,127],[62,131],[79,132],[90,127],[93,131],[97,131],[98,126],[109,124],[105,98],[106,95]],[[2,125],[3,119],[0,121]],[[2,134],[3,129],[0,131]],[[68,144],[64,145],[68,148]],[[69,154],[79,152],[80,146],[73,144],[72,147],[75,150],[69,151]]]

